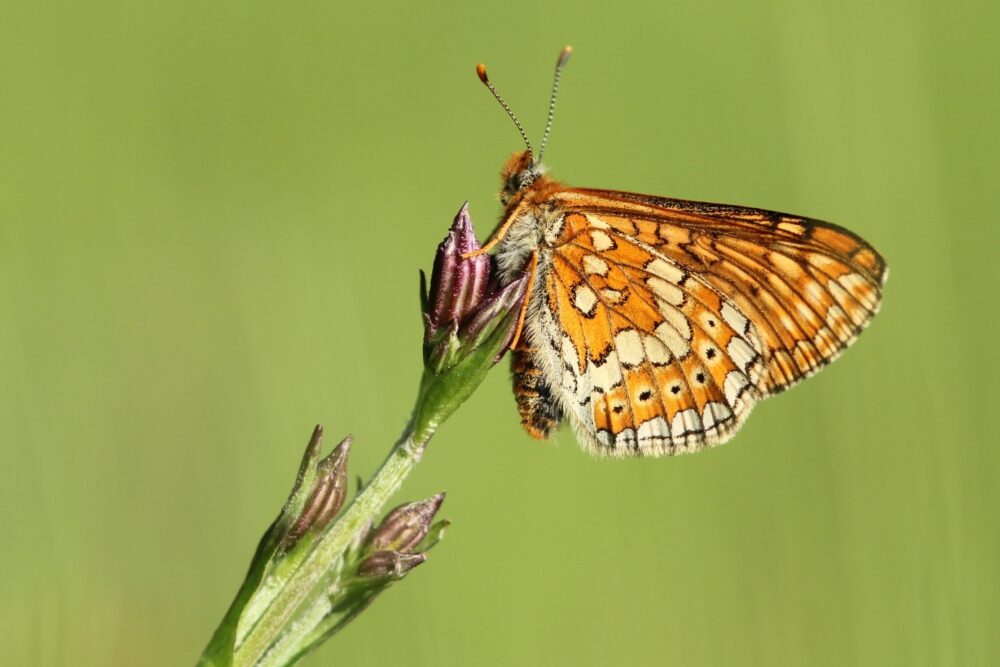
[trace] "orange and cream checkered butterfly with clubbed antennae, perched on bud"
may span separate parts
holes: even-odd
[[[836,225],[763,209],[567,187],[541,157],[501,172],[490,240],[501,280],[528,273],[514,394],[538,439],[568,421],[598,456],[660,456],[730,440],[753,406],[809,377],[878,312],[882,256]]]

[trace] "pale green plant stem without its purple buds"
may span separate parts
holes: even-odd
[[[325,532],[275,557],[287,529],[282,521],[289,518],[283,511],[261,540],[243,586],[202,655],[202,667],[291,665],[328,634],[316,633],[333,611],[345,554],[399,490],[438,426],[486,377],[514,317],[516,312],[500,313],[475,345],[456,344],[449,363],[424,371],[410,423],[364,489]]]

